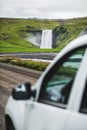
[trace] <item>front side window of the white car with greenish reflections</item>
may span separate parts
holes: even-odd
[[[39,101],[59,107],[66,107],[72,84],[84,56],[85,47],[65,55],[45,76]]]

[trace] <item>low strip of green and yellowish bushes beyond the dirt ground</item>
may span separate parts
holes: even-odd
[[[21,60],[19,58],[15,58],[15,57],[3,57],[3,58],[0,58],[0,62],[9,63],[12,65],[18,65],[18,66],[38,70],[38,71],[44,71],[49,64],[48,62]]]

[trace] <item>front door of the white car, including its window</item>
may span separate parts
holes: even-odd
[[[26,104],[26,130],[62,130],[71,115],[69,98],[85,47],[64,55],[44,76],[37,101]]]

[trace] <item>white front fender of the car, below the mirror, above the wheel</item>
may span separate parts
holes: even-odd
[[[25,130],[26,101],[16,101],[9,97],[6,104],[5,115],[8,115],[16,130]]]

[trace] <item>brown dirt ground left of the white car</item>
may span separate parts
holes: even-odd
[[[12,88],[24,82],[34,84],[37,78],[0,68],[0,130],[5,130],[4,108]]]

